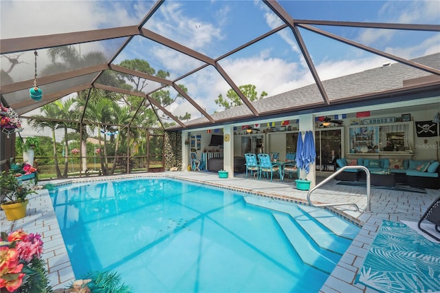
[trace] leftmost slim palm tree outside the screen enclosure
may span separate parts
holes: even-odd
[[[53,149],[54,149],[54,162],[55,162],[55,171],[56,171],[56,177],[57,178],[61,178],[61,171],[60,171],[60,167],[58,166],[58,157],[56,154],[56,140],[55,140],[55,129],[58,128],[58,122],[57,121],[51,121],[48,120],[49,118],[56,118],[58,117],[58,107],[56,107],[56,105],[54,105],[53,103],[44,105],[43,107],[41,107],[41,113],[39,115],[35,115],[33,119],[30,119],[30,125],[39,130],[43,130],[46,127],[49,128],[52,131],[52,145],[53,145]],[[41,120],[39,120],[38,118],[41,118]]]

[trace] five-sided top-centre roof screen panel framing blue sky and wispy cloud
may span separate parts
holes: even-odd
[[[262,1],[165,1],[144,28],[218,58],[270,31]]]

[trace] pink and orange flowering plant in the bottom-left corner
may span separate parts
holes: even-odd
[[[1,232],[0,288],[8,292],[50,292],[47,270],[41,259],[41,235],[28,234],[23,229]]]

